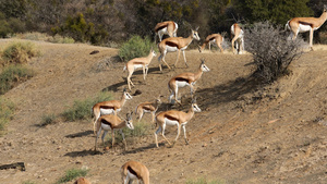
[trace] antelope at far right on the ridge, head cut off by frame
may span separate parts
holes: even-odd
[[[286,24],[286,28],[291,30],[289,36],[294,40],[299,33],[310,32],[310,48],[313,50],[313,32],[318,29],[327,20],[327,5],[324,4],[324,11],[320,17],[293,17]]]

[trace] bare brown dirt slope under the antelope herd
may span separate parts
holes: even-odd
[[[10,39],[1,40],[3,47]],[[178,69],[158,71],[158,56],[146,82],[142,72],[132,81],[141,95],[129,100],[121,116],[136,105],[162,95],[160,110],[168,108],[168,81],[182,72],[194,72],[204,58],[210,72],[196,83],[202,112],[187,123],[190,145],[183,134],[174,147],[155,146],[154,134],[128,142],[128,150],[110,149],[94,155],[95,136],[89,121],[62,122],[38,127],[43,115],[60,114],[74,100],[106,89],[116,99],[126,87],[123,63],[116,62],[117,49],[82,44],[35,42],[41,56],[28,65],[37,72],[3,98],[16,105],[8,134],[0,137],[0,163],[24,162],[26,171],[0,170],[0,183],[55,183],[72,168],[89,169],[94,184],[121,183],[119,169],[128,160],[143,162],[150,183],[185,183],[206,177],[223,183],[326,183],[327,181],[327,47],[315,46],[291,64],[291,73],[269,86],[247,82],[254,70],[251,54],[187,50],[190,68],[181,57]],[[97,54],[89,54],[99,50]],[[172,64],[175,53],[166,60]],[[182,111],[190,108],[190,89],[180,90]],[[145,114],[149,122],[150,115]],[[134,123],[135,116],[134,116]],[[150,130],[155,132],[155,127]],[[175,136],[167,127],[167,136]],[[159,140],[162,137],[159,136]],[[121,144],[121,143],[118,143]],[[99,145],[100,146],[100,145]]]

